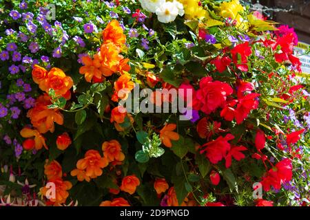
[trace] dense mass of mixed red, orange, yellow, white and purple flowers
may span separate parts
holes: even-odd
[[[44,2],[0,3],[0,206],[309,205],[292,28],[238,0]],[[127,112],[136,85],[192,117]]]

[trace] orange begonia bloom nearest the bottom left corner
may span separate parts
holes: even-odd
[[[51,190],[51,187],[42,187],[40,189],[41,195],[45,196],[45,197],[49,197],[49,200],[56,203],[56,204],[61,204],[61,203],[65,203],[65,200],[68,198],[69,196],[69,192],[68,190],[70,190],[70,188],[72,188],[72,184],[70,183],[70,181],[63,181],[63,179],[61,178],[56,178],[56,179],[50,179],[48,181],[48,184],[54,184],[55,186],[55,195],[53,197],[53,193]],[[51,185],[53,186],[53,185]]]

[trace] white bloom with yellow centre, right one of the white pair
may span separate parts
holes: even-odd
[[[176,19],[179,13],[176,2],[177,1],[167,1],[163,3],[159,8],[157,8],[156,14],[158,17],[158,21],[160,21],[161,23],[169,23]]]

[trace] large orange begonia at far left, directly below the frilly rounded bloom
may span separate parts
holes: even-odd
[[[57,124],[63,124],[63,115],[59,112],[59,109],[48,109],[50,102],[50,96],[44,94],[39,96],[36,100],[34,108],[30,109],[27,113],[32,125],[38,129],[40,133],[46,133],[48,131],[54,132],[54,122]]]

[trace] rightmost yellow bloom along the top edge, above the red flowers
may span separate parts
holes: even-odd
[[[239,0],[225,1],[220,4],[218,8],[218,14],[225,18],[235,19],[237,27],[243,30],[247,29],[247,23],[243,21],[242,16],[239,12],[243,12],[244,8],[240,4]]]

